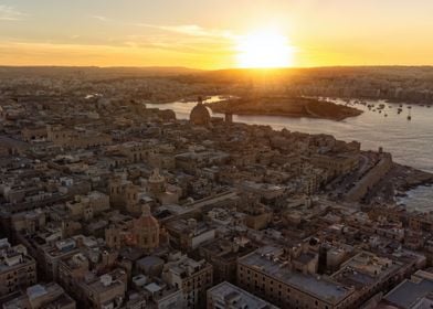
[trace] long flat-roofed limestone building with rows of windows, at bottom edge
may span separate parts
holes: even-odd
[[[353,308],[355,290],[309,274],[308,256],[299,256],[293,269],[289,263],[283,248],[262,247],[239,259],[237,285],[282,308]]]

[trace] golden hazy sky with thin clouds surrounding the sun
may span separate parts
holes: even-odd
[[[267,26],[295,66],[433,64],[433,0],[0,0],[0,64],[232,67]]]

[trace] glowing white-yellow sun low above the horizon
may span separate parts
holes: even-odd
[[[288,39],[272,29],[252,32],[236,40],[237,66],[244,68],[292,66],[294,51]]]

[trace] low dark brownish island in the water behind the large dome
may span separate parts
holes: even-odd
[[[306,97],[262,96],[208,103],[213,113],[344,120],[362,114],[353,107]]]

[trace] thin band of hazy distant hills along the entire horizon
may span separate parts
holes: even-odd
[[[186,83],[236,83],[262,78],[286,81],[295,78],[362,78],[391,77],[391,79],[433,81],[433,66],[329,66],[293,68],[228,68],[204,71],[182,66],[145,66],[145,67],[98,67],[98,66],[0,66],[0,77],[11,76],[53,76],[86,75],[92,77],[148,77],[175,76]]]

